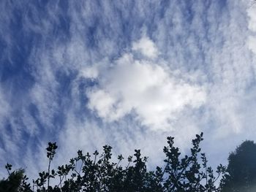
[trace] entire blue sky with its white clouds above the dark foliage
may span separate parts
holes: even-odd
[[[212,165],[256,136],[250,1],[1,1],[0,166],[35,175],[78,149],[162,163],[205,134]],[[4,172],[0,173],[4,175]]]

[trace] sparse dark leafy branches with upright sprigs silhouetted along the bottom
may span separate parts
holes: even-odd
[[[222,191],[225,180],[225,166],[217,167],[216,173],[207,164],[205,153],[201,153],[200,142],[203,133],[196,135],[192,140],[189,155],[181,156],[178,147],[174,145],[174,138],[167,137],[167,146],[164,147],[165,166],[154,171],[148,170],[147,158],[140,150],[127,159],[127,165],[122,166],[122,155],[117,161],[111,161],[112,147],[103,146],[101,154],[96,150],[93,154],[78,155],[70,159],[69,164],[50,169],[50,164],[56,153],[56,143],[48,143],[47,157],[48,171],[39,172],[39,178],[33,180],[31,187],[26,182],[26,176],[18,180],[18,191]],[[9,167],[10,168],[10,167]],[[9,169],[8,169],[9,172]],[[23,176],[23,172],[22,172]],[[50,180],[59,183],[50,185]],[[10,178],[7,182],[10,181]],[[1,185],[2,183],[0,183]]]

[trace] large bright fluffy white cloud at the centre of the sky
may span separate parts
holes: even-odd
[[[157,53],[148,37],[139,42],[144,41]],[[133,47],[138,47],[138,43]],[[179,112],[206,102],[203,87],[175,77],[163,64],[137,60],[132,54],[118,58],[113,67],[99,74],[98,81],[99,86],[87,92],[88,107],[110,122],[135,112],[142,125],[166,130]]]

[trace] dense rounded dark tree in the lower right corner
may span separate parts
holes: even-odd
[[[227,166],[228,177],[223,191],[255,191],[256,144],[246,140],[230,153]],[[254,190],[253,190],[254,189]]]

